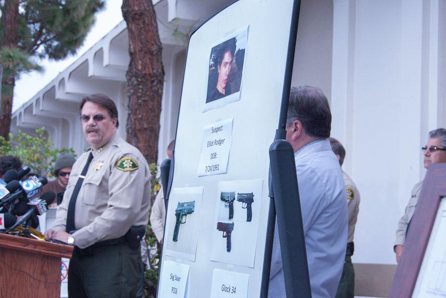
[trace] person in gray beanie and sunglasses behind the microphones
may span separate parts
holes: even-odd
[[[69,152],[60,153],[59,157],[57,157],[56,162],[53,166],[56,180],[50,181],[46,185],[44,185],[42,191],[43,192],[52,191],[57,195],[57,197],[62,198],[63,193],[65,192],[65,188],[68,184],[71,168],[75,161],[76,158],[71,153]],[[57,200],[55,199],[48,206],[57,207]]]

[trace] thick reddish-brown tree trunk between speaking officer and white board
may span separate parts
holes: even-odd
[[[127,142],[138,148],[149,163],[158,159],[164,70],[162,46],[152,0],[123,0],[130,63],[126,73]]]

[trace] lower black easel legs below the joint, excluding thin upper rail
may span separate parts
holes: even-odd
[[[270,162],[271,200],[260,297],[268,297],[276,218],[286,297],[311,297],[296,165],[291,145],[285,140],[274,141],[270,147]]]

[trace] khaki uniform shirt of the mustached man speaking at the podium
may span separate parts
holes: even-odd
[[[68,204],[90,152],[93,152],[93,160],[75,206],[77,231],[73,238],[79,248],[119,238],[130,226],[146,225],[149,219],[149,166],[138,149],[114,134],[103,148],[87,149],[74,163],[53,229],[65,230]]]

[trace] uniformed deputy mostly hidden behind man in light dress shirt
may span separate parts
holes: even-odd
[[[335,138],[329,138],[332,150],[335,153],[339,164],[342,166],[345,158],[345,149],[342,144]],[[348,232],[347,232],[347,251],[345,253],[344,268],[336,291],[336,298],[353,298],[355,292],[355,271],[351,262],[351,256],[354,252],[353,235],[355,233],[355,225],[359,212],[359,196],[358,189],[351,178],[342,171],[345,183],[345,192],[347,193],[347,210],[348,210]]]

